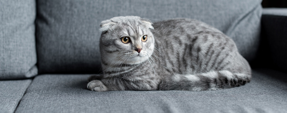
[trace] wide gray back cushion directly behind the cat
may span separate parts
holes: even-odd
[[[257,50],[261,0],[38,0],[39,73],[98,73],[99,24],[115,16],[134,15],[160,21],[193,18],[234,39],[248,61]]]

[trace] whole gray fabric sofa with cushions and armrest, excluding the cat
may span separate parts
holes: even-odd
[[[0,112],[287,112],[287,9],[261,0],[1,0]],[[217,91],[86,88],[101,72],[99,23],[194,18],[233,38],[252,81]]]

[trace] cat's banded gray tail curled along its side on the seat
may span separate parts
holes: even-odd
[[[203,91],[238,87],[250,82],[251,73],[232,73],[231,71],[209,71],[194,75],[174,74],[164,78],[160,90]]]

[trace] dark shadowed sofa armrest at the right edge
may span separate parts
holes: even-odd
[[[263,8],[259,53],[262,65],[287,72],[287,8]]]

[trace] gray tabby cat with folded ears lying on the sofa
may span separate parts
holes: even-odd
[[[177,18],[153,25],[126,16],[100,26],[104,76],[90,77],[92,91],[203,91],[250,81],[250,66],[233,40],[203,22]]]

